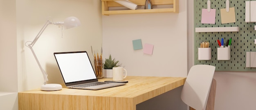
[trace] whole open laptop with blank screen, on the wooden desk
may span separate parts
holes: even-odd
[[[126,84],[99,82],[86,51],[56,52],[54,56],[67,88],[99,90]]]

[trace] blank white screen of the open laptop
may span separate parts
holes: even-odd
[[[96,79],[86,52],[54,55],[65,83]]]

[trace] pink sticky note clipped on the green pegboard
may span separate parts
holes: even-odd
[[[216,9],[211,9],[210,12],[207,9],[202,9],[202,24],[215,24]]]

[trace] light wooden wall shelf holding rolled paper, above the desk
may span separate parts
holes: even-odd
[[[138,6],[144,6],[145,0],[129,0]],[[121,4],[114,2],[114,0],[101,0],[102,2],[102,15],[112,14],[135,14],[135,13],[179,13],[179,0],[151,0],[153,5],[168,5],[173,7],[163,9],[137,9],[137,10],[109,10],[110,7],[123,7]]]

